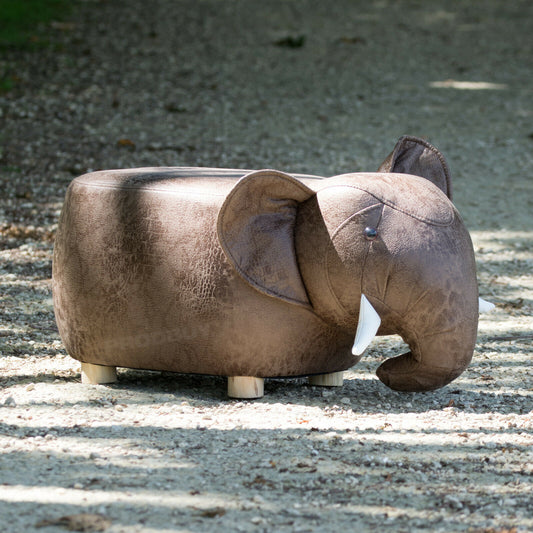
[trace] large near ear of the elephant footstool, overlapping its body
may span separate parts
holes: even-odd
[[[301,202],[315,192],[275,170],[244,176],[218,215],[220,244],[239,275],[258,291],[309,307],[294,246]]]

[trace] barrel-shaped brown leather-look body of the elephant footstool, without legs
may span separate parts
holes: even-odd
[[[246,171],[137,169],[77,178],[54,260],[67,351],[100,365],[297,376],[353,364],[353,335],[257,291],[232,268],[217,217]]]

